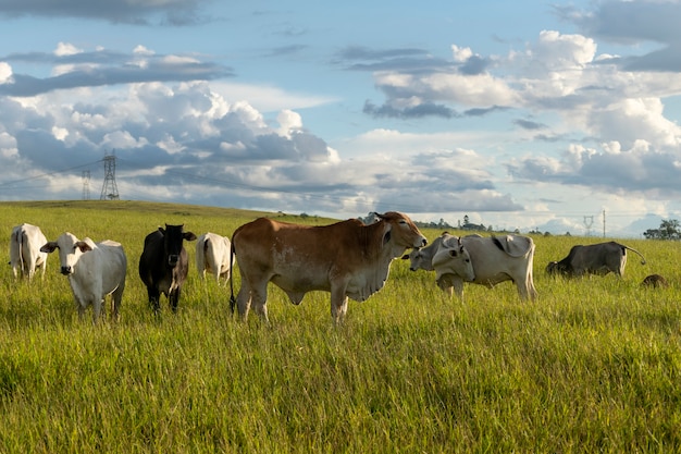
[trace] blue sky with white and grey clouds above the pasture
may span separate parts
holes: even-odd
[[[98,199],[114,156],[126,200],[642,237],[681,218],[680,23],[671,0],[0,0],[0,200]]]

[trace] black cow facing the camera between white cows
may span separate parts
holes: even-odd
[[[185,232],[184,225],[168,224],[145,238],[145,248],[139,257],[139,277],[147,286],[149,304],[157,314],[161,309],[161,294],[168,298],[173,312],[177,310],[182,285],[189,271],[184,240],[195,241],[196,235]]]

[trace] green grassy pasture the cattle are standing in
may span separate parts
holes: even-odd
[[[623,280],[550,279],[574,244],[534,237],[540,298],[510,283],[450,300],[393,263],[386,286],[331,323],[329,294],[300,306],[271,286],[271,326],[239,323],[228,290],[189,280],[152,317],[137,275],[163,223],[197,235],[262,213],[133,201],[2,203],[13,225],[111,238],[128,256],[121,321],[79,321],[58,258],[45,280],[0,272],[0,452],[677,452],[681,450],[681,244],[622,243]],[[285,220],[329,223],[273,213]],[[424,231],[431,240],[439,232]],[[660,273],[670,289],[646,290]],[[235,287],[238,289],[238,273]]]

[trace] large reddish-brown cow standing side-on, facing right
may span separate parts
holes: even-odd
[[[268,320],[267,292],[271,281],[293,304],[311,291],[331,292],[331,316],[338,323],[348,297],[362,302],[385,285],[391,262],[407,248],[426,244],[425,236],[399,212],[376,214],[364,224],[357,219],[324,226],[297,225],[265,218],[242,225],[232,237],[242,289],[231,307],[246,320],[253,310]]]

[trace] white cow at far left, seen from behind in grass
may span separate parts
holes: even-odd
[[[12,229],[10,235],[10,265],[14,278],[22,277],[33,280],[36,269],[41,269],[40,278],[45,278],[47,267],[47,253],[40,251],[40,247],[47,243],[47,238],[40,228],[32,224],[21,224]]]

